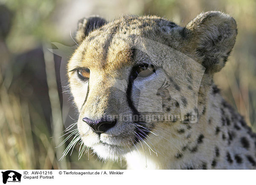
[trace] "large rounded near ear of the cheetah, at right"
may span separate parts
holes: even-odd
[[[236,21],[220,11],[201,13],[187,26],[192,49],[206,72],[224,67],[236,41]]]

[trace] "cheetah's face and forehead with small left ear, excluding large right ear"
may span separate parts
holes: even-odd
[[[158,17],[79,22],[79,47],[67,71],[84,145],[103,159],[119,159],[143,145],[155,152],[155,143],[177,137],[172,129],[197,122],[206,68],[188,46],[198,40],[190,34]]]

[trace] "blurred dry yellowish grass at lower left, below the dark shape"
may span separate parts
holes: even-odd
[[[63,124],[60,123],[61,130],[56,134],[49,133],[44,117],[34,111],[28,102],[8,92],[1,74],[0,84],[0,169],[121,168],[120,164],[96,160],[92,151],[89,151],[89,157],[84,155],[78,160],[77,147],[72,157],[58,161],[64,148],[55,147],[61,143],[58,136],[64,130]]]

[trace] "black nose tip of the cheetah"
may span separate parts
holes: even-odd
[[[83,121],[86,122],[93,129],[93,131],[98,134],[101,134],[116,125],[116,119],[113,121],[103,121],[103,119],[91,120],[84,117]]]

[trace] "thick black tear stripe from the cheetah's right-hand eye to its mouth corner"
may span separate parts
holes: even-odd
[[[133,115],[138,115],[140,117],[139,112],[137,111],[137,109],[135,108],[135,106],[134,106],[134,104],[131,100],[132,86],[133,86],[134,80],[136,79],[136,77],[133,76],[134,73],[135,73],[135,67],[132,68],[131,74],[129,76],[129,82],[128,82],[128,86],[127,86],[127,90],[126,90],[126,99],[127,99],[127,102],[128,102],[128,106],[131,108],[131,111],[132,111]],[[146,128],[144,121],[141,121],[141,122],[134,121],[134,123]],[[148,136],[149,131],[151,129],[150,128],[145,129],[145,128],[144,129],[139,129],[138,127],[135,127],[136,137],[135,137],[135,143],[134,144],[136,144],[140,140],[145,139]]]

